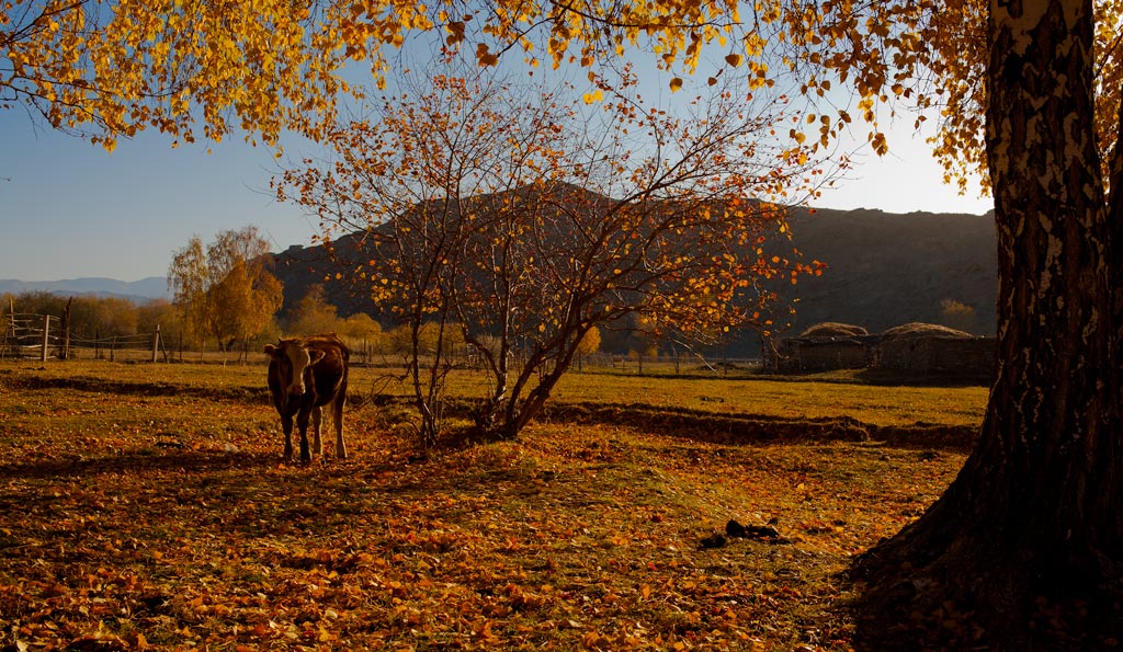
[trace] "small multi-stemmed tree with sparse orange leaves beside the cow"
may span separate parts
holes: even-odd
[[[476,428],[513,438],[593,329],[633,314],[654,333],[765,328],[775,295],[760,282],[813,272],[765,251],[785,209],[756,198],[818,183],[809,153],[773,138],[779,97],[750,110],[743,88],[720,86],[684,118],[645,105],[627,71],[597,79],[587,104],[486,74],[431,84],[341,126],[334,164],[277,181],[283,199],[359,231],[335,252],[411,331],[426,446],[456,342],[491,380]]]

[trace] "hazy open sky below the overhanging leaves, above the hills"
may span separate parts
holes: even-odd
[[[868,155],[820,208],[982,214],[989,199],[960,196],[920,137],[891,136],[893,153]],[[237,136],[173,149],[158,134],[112,154],[45,129],[22,109],[0,111],[0,278],[58,281],[163,276],[194,235],[255,224],[274,250],[308,245],[317,220],[268,192],[270,150]]]

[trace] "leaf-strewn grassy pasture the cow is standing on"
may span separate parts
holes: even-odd
[[[3,362],[0,650],[846,650],[840,573],[986,389],[844,380],[575,374],[519,441],[424,459],[357,368],[351,459],[300,467],[264,364]]]

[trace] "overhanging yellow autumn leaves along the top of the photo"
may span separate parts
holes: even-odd
[[[1094,3],[1103,89],[1120,88],[1123,75],[1121,4]],[[325,137],[340,101],[362,94],[343,75],[345,65],[368,67],[381,88],[392,70],[387,62],[420,35],[426,49],[463,48],[485,66],[521,54],[531,68],[596,68],[638,47],[685,76],[710,53],[716,63],[702,66],[706,74],[741,76],[755,88],[794,81],[806,116],[787,135],[813,147],[829,149],[861,118],[873,122],[865,136],[884,153],[891,144],[878,122],[919,123],[938,113],[935,153],[948,177],[969,190],[968,175],[986,175],[985,9],[979,0],[442,0],[295,9],[271,0],[156,10],[143,0],[17,0],[0,7],[0,107],[24,104],[107,148],[144,129],[191,141],[198,123],[209,139],[237,130],[280,145],[285,129]],[[682,76],[670,80],[673,90],[682,86]],[[1119,130],[1119,93],[1097,98],[1104,153]]]

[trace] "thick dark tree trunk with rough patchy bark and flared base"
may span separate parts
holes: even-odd
[[[996,377],[959,477],[855,564],[871,649],[1083,650],[1123,633],[1119,264],[1092,2],[993,0],[989,34]]]

